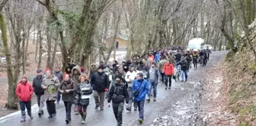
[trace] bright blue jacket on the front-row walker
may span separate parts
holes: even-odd
[[[135,101],[142,101],[146,99],[146,94],[149,93],[149,83],[147,80],[134,80],[133,81],[133,93],[139,91],[138,96],[134,96]]]

